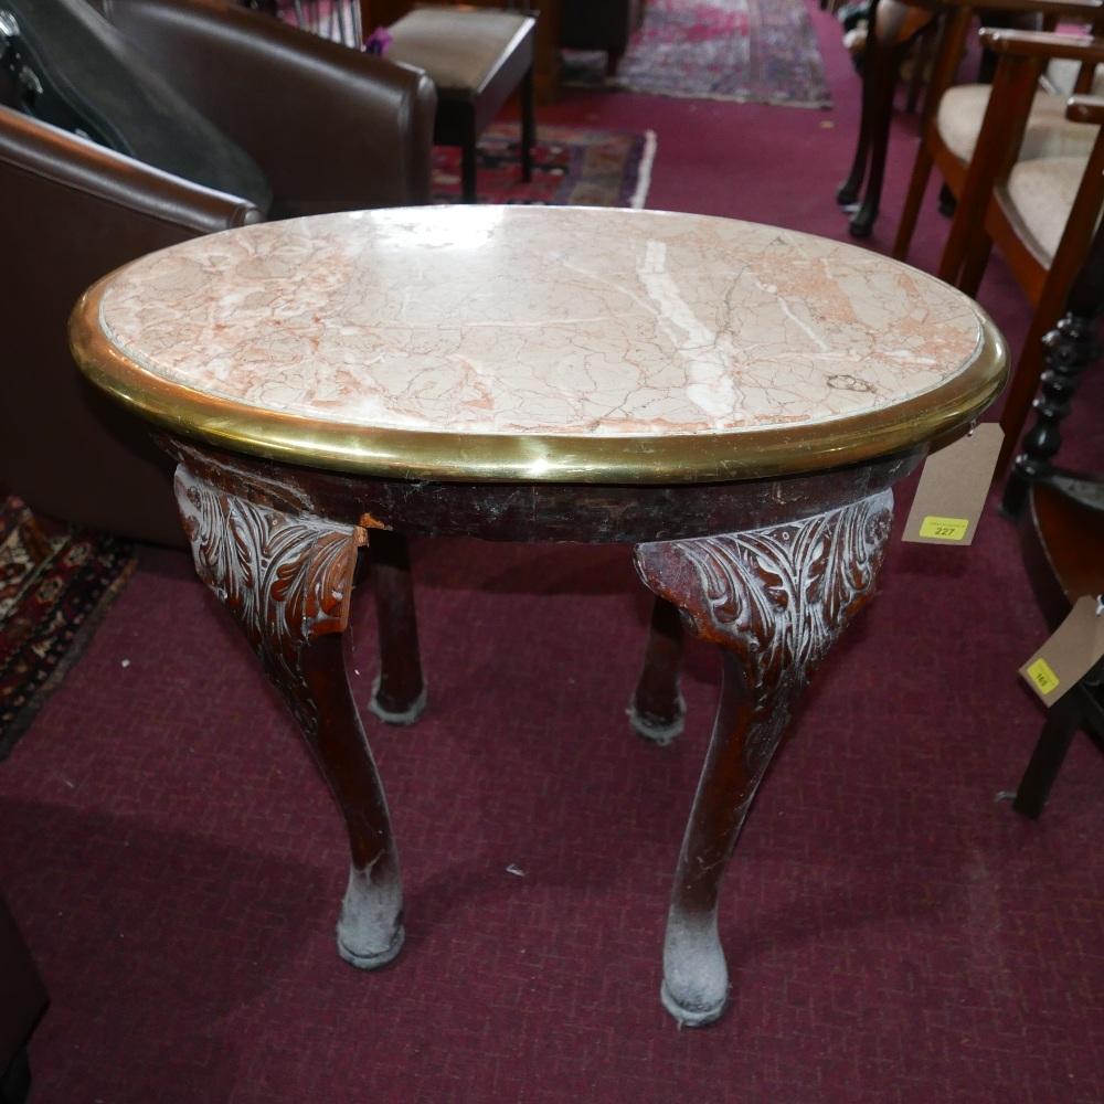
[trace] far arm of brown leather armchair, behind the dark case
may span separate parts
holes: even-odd
[[[272,217],[425,203],[436,91],[420,70],[217,0],[100,0],[261,166]]]

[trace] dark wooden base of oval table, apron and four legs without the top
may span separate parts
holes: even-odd
[[[200,577],[248,637],[344,817],[351,870],[338,949],[390,962],[403,941],[386,800],[344,672],[340,634],[363,550],[376,571],[381,676],[373,708],[408,722],[424,704],[413,596],[395,533],[626,542],[658,596],[629,710],[659,743],[681,730],[681,622],[716,644],[723,680],[678,859],[661,997],[687,1025],[716,1019],[729,977],[718,892],[755,789],[813,670],[869,599],[892,485],[923,449],[762,480],[603,486],[406,481],[277,464],[160,435]],[[397,549],[397,559],[396,559]],[[381,700],[382,699],[382,700]]]

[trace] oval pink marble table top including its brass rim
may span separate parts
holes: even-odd
[[[999,389],[967,297],[699,215],[416,208],[152,254],[78,307],[97,383],[185,433],[338,469],[703,479],[915,447]]]

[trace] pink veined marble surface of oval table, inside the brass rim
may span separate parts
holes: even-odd
[[[490,206],[200,237],[114,277],[100,325],[145,370],[253,408],[608,437],[883,410],[960,372],[981,335],[965,296],[838,242]]]

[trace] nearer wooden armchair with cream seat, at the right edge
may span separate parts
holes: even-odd
[[[1047,62],[1078,61],[1093,76],[1093,67],[1104,63],[1104,39],[1025,31],[984,31],[983,39],[1000,59],[992,106],[963,179],[940,270],[976,295],[996,245],[1033,308],[1000,418],[1004,466],[1036,393],[1043,335],[1058,321],[1104,206],[1104,98],[1073,96],[1064,108],[1065,125],[1085,136],[1080,153],[1019,157],[1026,119]]]

